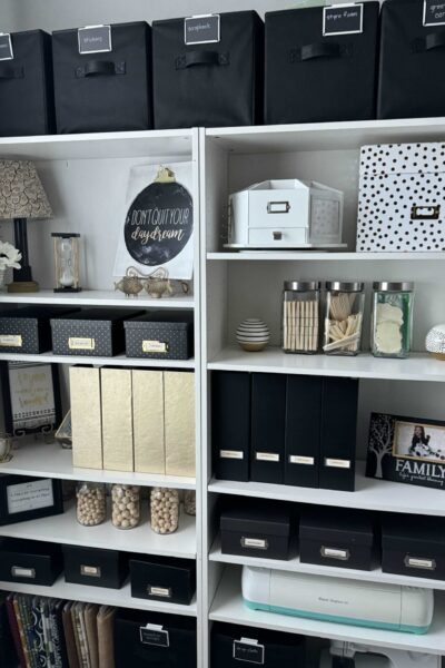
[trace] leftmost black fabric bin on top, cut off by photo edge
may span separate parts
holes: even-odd
[[[50,135],[56,131],[51,38],[42,30],[10,38],[13,58],[0,60],[0,136]]]

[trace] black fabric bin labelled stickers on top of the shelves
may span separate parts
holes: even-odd
[[[107,48],[100,37],[98,50]],[[111,26],[111,51],[79,52],[78,30],[52,33],[57,131],[112,132],[152,127],[151,30]]]

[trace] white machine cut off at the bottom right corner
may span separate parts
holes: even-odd
[[[320,668],[441,668],[441,657],[333,640]]]

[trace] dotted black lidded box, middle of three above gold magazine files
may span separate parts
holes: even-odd
[[[128,308],[89,308],[51,320],[55,355],[112,357],[125,351],[123,321],[142,315]]]

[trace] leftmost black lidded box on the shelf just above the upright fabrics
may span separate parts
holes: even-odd
[[[0,580],[51,587],[62,568],[59,544],[18,538],[0,539]]]

